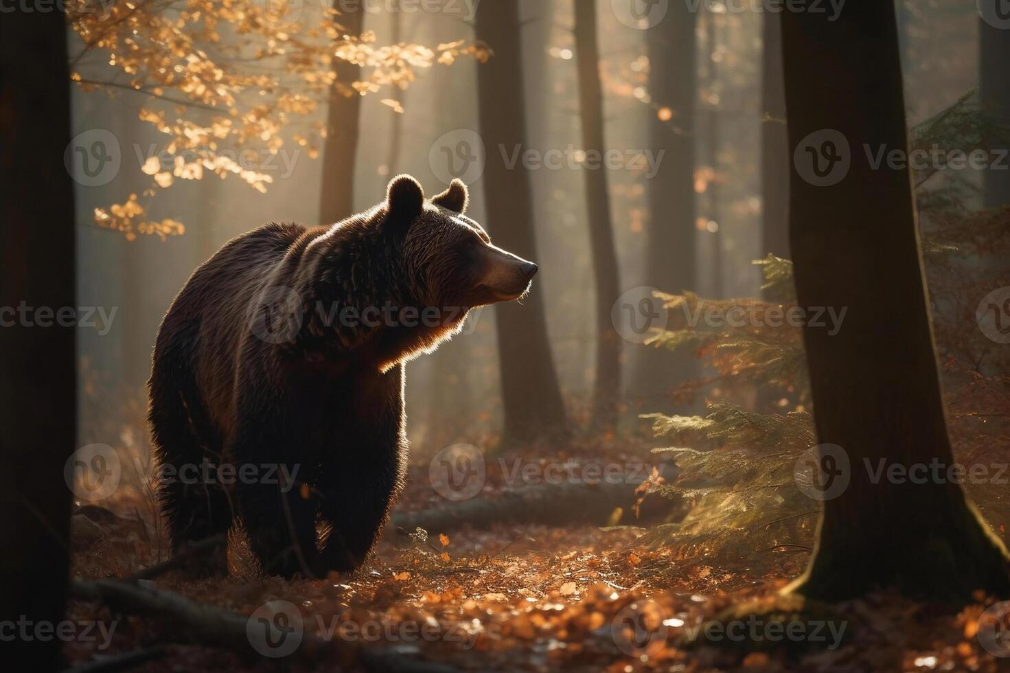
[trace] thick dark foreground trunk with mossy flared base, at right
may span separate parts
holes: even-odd
[[[1006,551],[960,484],[874,476],[881,461],[953,464],[910,177],[874,170],[864,151],[907,150],[894,5],[856,3],[833,22],[784,12],[782,28],[789,140],[801,148],[790,185],[798,302],[848,308],[833,336],[803,329],[818,441],[841,447],[849,466],[822,454],[821,484],[830,492],[846,473],[849,483],[825,500],[810,566],[793,588],[827,600],[876,586],[950,601],[976,589],[1010,593]]]

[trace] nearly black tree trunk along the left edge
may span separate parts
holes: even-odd
[[[76,306],[74,189],[67,23],[60,11],[14,11],[0,22],[0,306],[54,312]],[[11,316],[5,315],[5,319]],[[71,491],[64,464],[77,441],[75,327],[0,328],[0,620],[63,619]],[[33,671],[60,667],[40,639],[5,644],[5,661]]]

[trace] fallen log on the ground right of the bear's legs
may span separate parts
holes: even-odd
[[[641,482],[563,483],[524,486],[500,495],[475,497],[420,511],[395,512],[392,526],[405,536],[417,528],[429,534],[449,533],[464,526],[487,528],[495,523],[634,524],[654,521],[676,508],[670,500],[647,498],[635,515],[636,493]],[[614,520],[620,508],[619,520]]]

